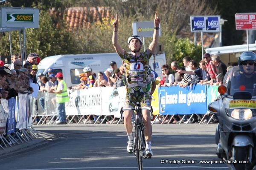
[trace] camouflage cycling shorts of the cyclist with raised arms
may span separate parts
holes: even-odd
[[[123,108],[134,108],[136,105],[136,102],[140,102],[140,107],[151,106],[151,101],[146,88],[133,87],[133,88],[127,89],[125,104]]]

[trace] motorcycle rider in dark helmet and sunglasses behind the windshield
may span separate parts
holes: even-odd
[[[242,74],[237,76],[235,88],[254,89],[256,86],[256,54],[252,51],[243,52],[238,59],[238,65]]]

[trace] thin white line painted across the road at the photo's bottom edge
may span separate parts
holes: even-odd
[[[177,169],[177,168],[202,168],[202,169],[228,169],[228,167],[143,167],[143,169]],[[20,170],[89,170],[89,169],[138,169],[138,167],[70,167],[70,168],[44,168],[44,169],[20,169]]]

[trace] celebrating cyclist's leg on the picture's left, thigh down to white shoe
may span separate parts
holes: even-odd
[[[126,97],[125,97],[125,104],[123,108],[134,108],[134,103],[132,102],[132,97],[130,96],[130,93],[127,92]],[[133,153],[133,136],[132,136],[132,129],[133,126],[131,124],[131,116],[133,114],[133,111],[124,111],[123,116],[124,116],[124,126],[126,129],[126,133],[128,136],[128,145],[127,145],[127,151],[128,153]]]

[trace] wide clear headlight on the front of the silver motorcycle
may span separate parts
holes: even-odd
[[[256,116],[255,109],[225,109],[228,116],[236,120],[248,120]]]

